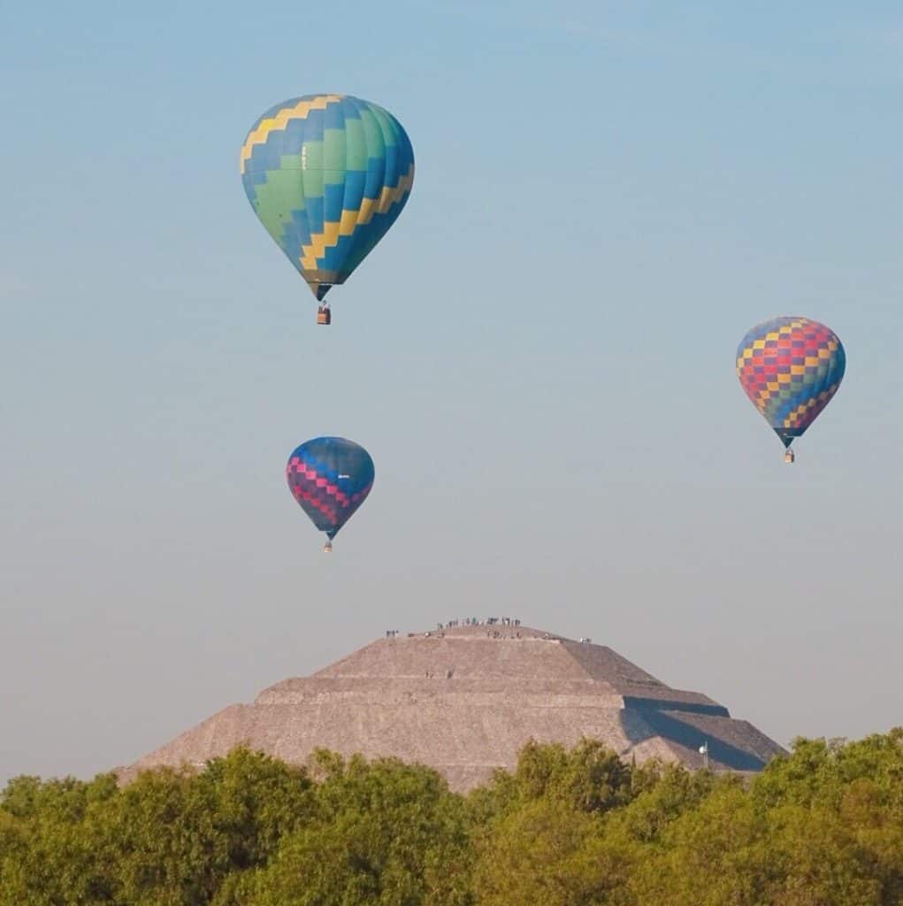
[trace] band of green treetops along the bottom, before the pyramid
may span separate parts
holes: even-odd
[[[0,906],[900,906],[903,729],[800,739],[753,780],[524,747],[437,772],[235,749],[128,786],[0,792]]]

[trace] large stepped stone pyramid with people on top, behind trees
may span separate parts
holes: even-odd
[[[671,689],[616,651],[519,621],[388,631],[312,676],[230,705],[120,772],[203,766],[245,744],[303,764],[315,748],[432,766],[466,791],[511,769],[531,739],[600,739],[621,757],[758,771],[783,752],[699,692]]]

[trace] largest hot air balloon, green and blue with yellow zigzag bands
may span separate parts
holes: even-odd
[[[245,194],[321,303],[405,207],[414,151],[389,111],[351,95],[306,94],[260,117],[242,146]]]

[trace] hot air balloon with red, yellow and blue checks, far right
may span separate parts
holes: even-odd
[[[784,316],[754,327],[737,348],[737,377],[746,396],[790,445],[841,386],[847,357],[836,333],[809,318]]]

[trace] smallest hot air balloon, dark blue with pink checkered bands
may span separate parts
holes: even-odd
[[[323,550],[339,534],[373,487],[373,460],[360,444],[344,438],[314,438],[293,450],[285,467],[292,496],[326,533]]]

